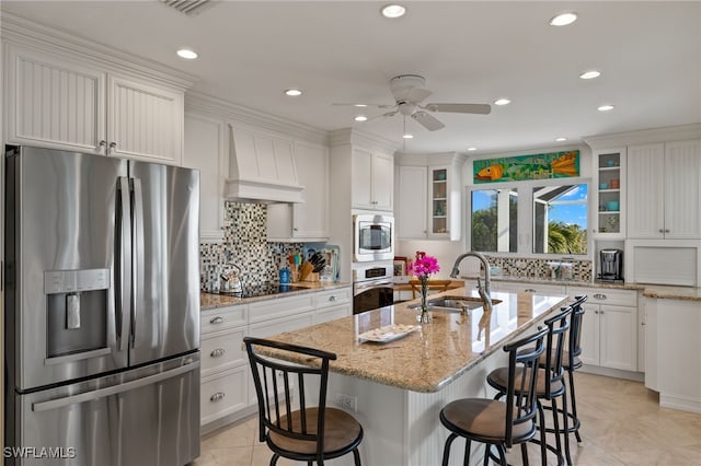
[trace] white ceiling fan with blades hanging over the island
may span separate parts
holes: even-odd
[[[414,118],[420,125],[429,131],[445,128],[439,119],[430,115],[428,112],[448,112],[457,114],[479,114],[487,115],[492,112],[492,107],[487,104],[436,104],[429,103],[421,105],[427,98],[432,91],[427,90],[426,80],[418,74],[401,74],[390,80],[390,91],[394,96],[395,104],[333,104],[333,105],[353,105],[356,107],[378,107],[392,108],[392,110],[379,115],[370,120],[381,117],[392,117],[398,113],[404,117]]]

